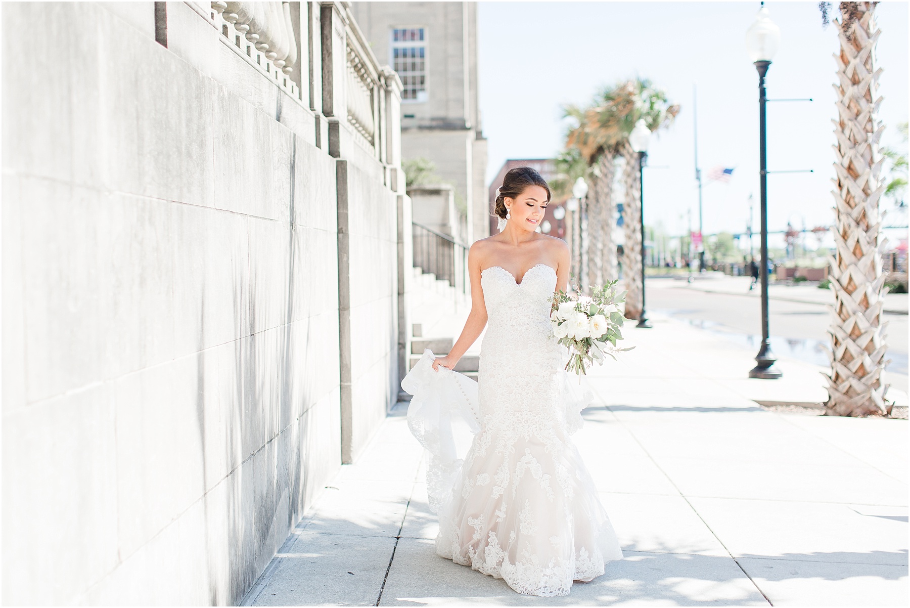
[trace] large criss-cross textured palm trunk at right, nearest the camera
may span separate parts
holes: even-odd
[[[841,52],[835,56],[838,84],[834,135],[837,178],[834,194],[834,242],[831,287],[834,315],[831,335],[831,374],[826,413],[868,416],[891,410],[885,402],[885,325],[882,306],[885,273],[884,246],[878,201],[885,190],[879,183],[884,158],[878,151],[882,127],[876,112],[878,75],[875,67],[875,3],[841,3],[835,21]]]

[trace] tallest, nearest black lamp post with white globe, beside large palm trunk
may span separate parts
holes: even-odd
[[[762,218],[762,245],[761,245],[761,280],[762,280],[762,346],[755,355],[758,363],[749,370],[749,378],[762,378],[773,380],[780,378],[783,373],[774,367],[777,360],[771,351],[771,338],[768,330],[768,165],[767,147],[765,142],[765,114],[764,106],[767,99],[764,96],[764,76],[771,66],[771,59],[777,52],[781,40],[781,31],[774,25],[768,16],[768,8],[762,3],[755,23],[745,33],[746,51],[752,58],[758,70],[758,128],[759,128],[759,184],[761,188],[761,218]]]

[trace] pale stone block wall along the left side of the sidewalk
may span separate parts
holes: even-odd
[[[207,3],[2,10],[3,601],[238,603],[397,391],[399,160],[330,155],[307,56],[295,99]]]

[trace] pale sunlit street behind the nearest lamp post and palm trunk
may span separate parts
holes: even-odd
[[[732,278],[721,280],[733,282]],[[747,281],[736,283],[737,286],[748,284]],[[732,294],[700,288],[700,281],[690,285],[679,279],[648,279],[647,309],[686,320],[701,329],[713,330],[740,344],[752,345],[757,352],[762,336],[762,305],[758,291],[750,293],[743,289],[741,294]],[[827,366],[823,347],[831,344],[827,334],[831,319],[828,309],[823,303],[787,301],[776,299],[776,295],[772,294],[768,301],[774,354]],[[886,381],[895,389],[906,391],[907,316],[888,313],[884,316],[889,323],[886,358],[891,360]]]

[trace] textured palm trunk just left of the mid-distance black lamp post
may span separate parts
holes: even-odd
[[[622,183],[625,196],[622,202],[622,228],[625,244],[622,246],[622,277],[625,279],[625,318],[638,319],[642,315],[642,205],[639,181],[638,153],[626,141],[622,146]]]

